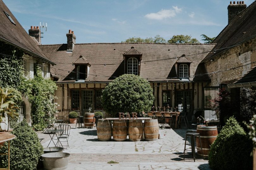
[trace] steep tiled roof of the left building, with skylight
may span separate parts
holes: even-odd
[[[15,25],[9,20],[7,12]],[[0,0],[0,41],[11,44],[17,48],[20,48],[35,57],[43,59],[47,62],[52,61],[46,57],[46,55],[38,48],[38,44],[27,34],[24,28],[20,25],[19,21],[16,20],[15,16],[7,8],[7,6]]]

